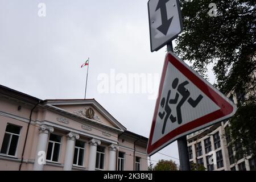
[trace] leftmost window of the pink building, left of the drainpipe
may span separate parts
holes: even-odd
[[[5,130],[5,137],[3,137],[3,143],[1,148],[1,154],[16,155],[16,149],[18,146],[20,135],[20,127],[7,124]]]

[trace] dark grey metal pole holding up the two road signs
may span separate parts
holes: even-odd
[[[167,44],[167,51],[174,52],[172,48],[172,42]],[[187,137],[180,137],[177,139],[178,149],[179,149],[179,158],[180,158],[180,169],[181,171],[189,171],[189,159],[188,159],[188,145]]]

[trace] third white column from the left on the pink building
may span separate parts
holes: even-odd
[[[90,142],[90,153],[89,153],[89,171],[95,171],[96,166],[96,152],[97,152],[97,145],[101,144],[100,140],[91,139]]]

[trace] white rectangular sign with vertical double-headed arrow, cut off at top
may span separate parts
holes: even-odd
[[[182,31],[179,0],[149,0],[148,19],[150,26],[151,52],[165,46]]]

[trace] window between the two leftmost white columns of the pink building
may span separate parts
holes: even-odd
[[[53,162],[59,161],[61,137],[50,134],[46,159]]]

